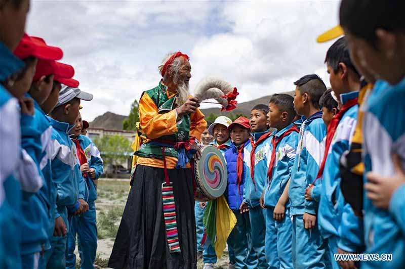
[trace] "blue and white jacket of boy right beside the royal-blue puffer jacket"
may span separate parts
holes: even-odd
[[[264,132],[254,132],[251,133],[251,137],[254,141],[257,141],[261,136],[265,135],[269,131]],[[267,177],[267,164],[268,159],[271,157],[270,152],[271,138],[267,138],[262,141],[256,147],[255,151],[255,174],[253,184],[251,176],[251,164],[250,164],[250,154],[252,152],[252,145],[249,143],[244,148],[244,163],[246,164],[246,173],[245,173],[245,190],[244,190],[244,202],[248,204],[250,208],[259,206],[259,200],[262,196],[263,188],[266,182]]]

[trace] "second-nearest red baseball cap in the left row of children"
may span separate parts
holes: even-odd
[[[52,60],[38,60],[33,81],[37,81],[42,76],[49,76],[51,74],[54,74],[55,77],[58,78],[72,78],[74,68],[71,65]]]

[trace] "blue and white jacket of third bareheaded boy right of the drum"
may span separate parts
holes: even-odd
[[[321,116],[322,112],[316,112],[302,119],[289,189],[291,215],[316,214],[317,202],[305,201],[304,194],[314,182],[325,152],[326,126]]]

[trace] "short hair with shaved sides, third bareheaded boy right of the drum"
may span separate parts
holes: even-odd
[[[323,80],[316,74],[305,75],[294,82],[298,86],[300,93],[308,94],[311,97],[311,103],[316,109],[319,107],[319,99],[326,91],[326,85]]]

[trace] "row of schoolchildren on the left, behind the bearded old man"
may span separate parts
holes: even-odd
[[[0,268],[94,268],[100,152],[60,48],[24,31],[28,0],[0,1]]]

